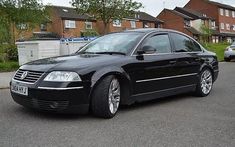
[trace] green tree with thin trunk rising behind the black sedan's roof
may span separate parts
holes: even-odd
[[[113,20],[122,20],[133,16],[142,4],[133,0],[72,0],[72,6],[78,13],[88,14],[104,24],[104,34]]]

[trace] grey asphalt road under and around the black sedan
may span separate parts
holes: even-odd
[[[0,146],[234,147],[235,63],[221,63],[210,96],[121,108],[110,120],[27,110],[0,91]]]

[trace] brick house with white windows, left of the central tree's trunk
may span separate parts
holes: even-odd
[[[73,8],[50,6],[52,32],[60,37],[80,37],[87,30],[96,30],[96,20],[80,15]]]

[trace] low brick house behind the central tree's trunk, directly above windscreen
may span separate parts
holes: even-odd
[[[163,21],[145,13],[137,12],[133,17],[123,18],[122,20],[113,20],[108,26],[108,32],[120,32],[138,28],[161,28]],[[100,34],[104,32],[102,21],[97,22]]]

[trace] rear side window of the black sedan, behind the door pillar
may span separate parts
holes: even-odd
[[[190,38],[177,34],[171,34],[172,40],[175,45],[176,52],[198,52],[201,51],[200,46]]]

